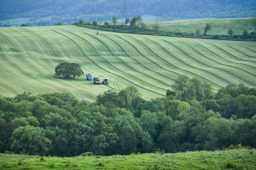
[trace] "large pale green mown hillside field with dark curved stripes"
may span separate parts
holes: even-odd
[[[106,90],[135,86],[149,100],[165,96],[180,74],[206,80],[213,90],[229,82],[256,87],[256,42],[96,33],[72,25],[0,28],[0,96],[65,92],[95,101]],[[80,63],[85,74],[57,78],[63,61]],[[86,73],[110,84],[96,86]]]

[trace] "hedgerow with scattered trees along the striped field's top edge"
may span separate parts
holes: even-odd
[[[174,37],[189,37],[199,39],[214,39],[214,40],[243,40],[243,41],[256,41],[255,31],[243,31],[242,35],[235,35],[232,28],[226,32],[226,35],[208,35],[207,33],[212,30],[212,25],[205,24],[202,34],[199,29],[195,32],[171,32],[168,30],[160,30],[158,23],[155,23],[152,28],[147,28],[147,25],[143,23],[141,15],[136,15],[133,18],[126,18],[124,23],[117,22],[117,16],[112,17],[112,23],[104,22],[101,20],[101,24],[98,24],[96,20],[92,23],[85,22],[84,19],[80,19],[79,22],[73,23],[80,27],[88,27],[98,29],[102,31],[121,32],[121,33],[138,33],[143,35],[159,35],[159,36],[174,36]]]

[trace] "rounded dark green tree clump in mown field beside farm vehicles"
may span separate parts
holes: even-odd
[[[75,79],[75,76],[81,76],[84,71],[78,63],[62,62],[55,67],[55,74],[64,76],[64,78],[73,77]]]

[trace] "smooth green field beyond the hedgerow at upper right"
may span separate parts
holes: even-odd
[[[228,35],[229,29],[233,29],[235,35],[242,35],[243,31],[255,31],[256,18],[223,18],[223,19],[198,19],[198,20],[175,20],[165,22],[146,22],[148,28],[159,24],[159,30],[171,32],[204,33],[205,24],[212,25],[209,35]]]

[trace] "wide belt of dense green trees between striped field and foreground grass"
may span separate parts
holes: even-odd
[[[215,94],[179,75],[166,97],[143,100],[137,88],[109,90],[97,101],[69,94],[0,98],[0,152],[30,155],[131,153],[255,147],[256,90],[229,83]]]

